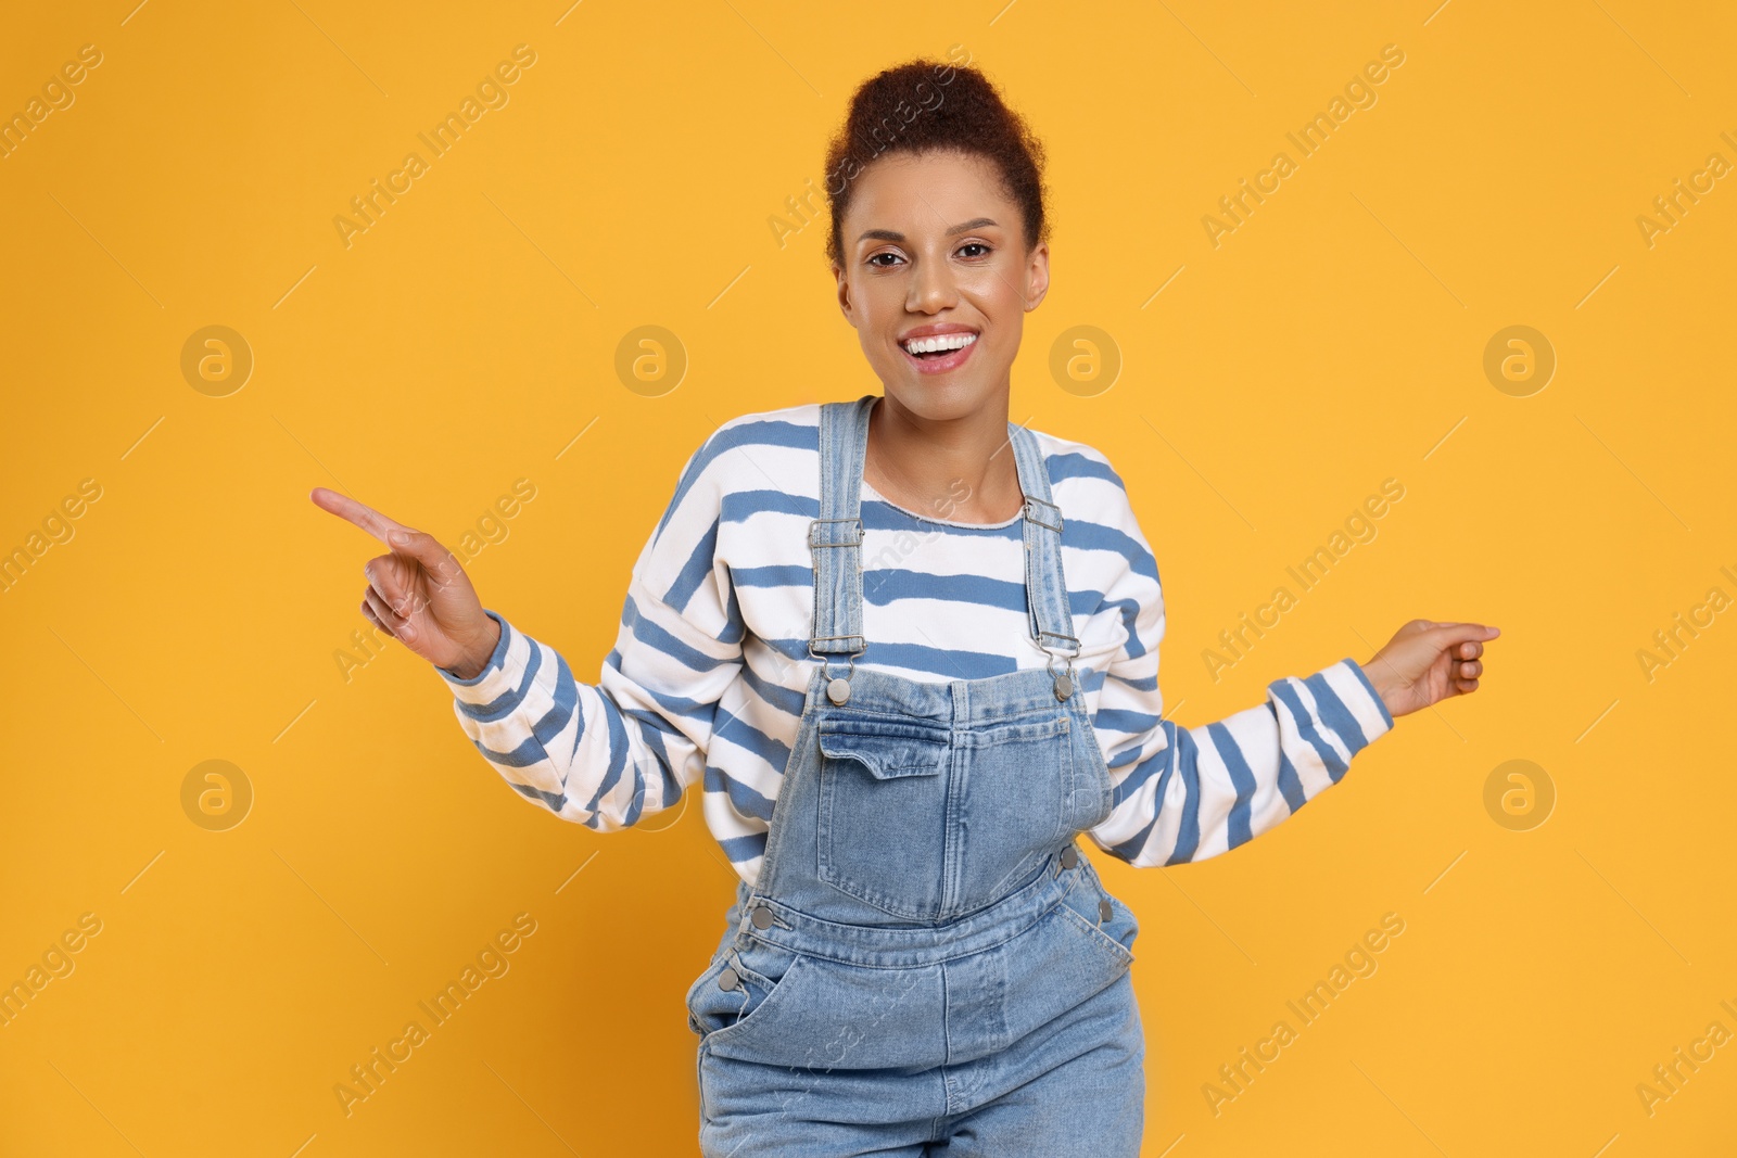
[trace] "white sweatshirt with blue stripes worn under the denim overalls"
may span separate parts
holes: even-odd
[[[1164,719],[1164,592],[1122,479],[1091,446],[1034,431],[1061,507],[1077,684],[1115,785],[1089,830],[1134,866],[1233,849],[1339,781],[1393,717],[1350,656],[1282,677],[1216,724]],[[955,493],[962,484],[955,486]],[[1021,517],[957,523],[862,484],[860,668],[981,679],[1049,656],[1032,642]],[[436,668],[478,752],[526,800],[617,832],[703,786],[707,828],[754,884],[815,660],[808,524],[820,514],[820,406],[750,413],[688,458],[632,568],[596,684],[499,611],[472,679]]]

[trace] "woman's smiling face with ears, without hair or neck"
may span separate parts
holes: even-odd
[[[839,307],[891,401],[929,420],[1006,410],[1025,313],[1049,290],[1049,247],[1025,248],[1025,219],[992,161],[881,156],[856,177],[839,247]],[[924,335],[973,337],[912,354]]]

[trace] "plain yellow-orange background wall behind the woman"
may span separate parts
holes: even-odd
[[[101,922],[0,1028],[3,1153],[693,1153],[683,991],[735,885],[700,811],[563,825],[424,661],[346,672],[379,549],[307,491],[457,543],[530,479],[467,569],[596,679],[700,441],[877,389],[825,224],[780,248],[768,219],[822,182],[860,80],[952,45],[1051,155],[1013,417],[1126,479],[1178,719],[1414,616],[1503,628],[1478,694],[1252,845],[1143,872],[1089,851],[1143,924],[1146,1153],[1737,1142],[1728,1042],[1652,1113],[1636,1092],[1737,1031],[1737,186],[1650,245],[1636,222],[1737,163],[1728,7],[132,3],[35,5],[0,38],[0,113],[101,52],[0,160],[0,550],[101,490],[0,595],[0,983]],[[521,43],[507,104],[346,247],[334,217]],[[1301,158],[1285,134],[1384,45],[1376,102]],[[1280,149],[1296,172],[1214,247],[1202,217]],[[210,325],[254,359],[222,396],[182,373]],[[660,396],[615,370],[643,325],[688,361]],[[1483,370],[1513,325],[1558,363],[1523,398]],[[1119,352],[1108,389],[1051,373],[1073,326]],[[1219,632],[1390,477],[1379,533],[1214,681]],[[1714,587],[1648,677],[1638,653]],[[1516,759],[1534,807],[1553,786],[1542,825],[1485,806]],[[252,790],[222,832],[182,806],[205,760]],[[519,913],[509,972],[346,1116],[349,1066]],[[1219,1066],[1384,913],[1377,972],[1214,1113]]]

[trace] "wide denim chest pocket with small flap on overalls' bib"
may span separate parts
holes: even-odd
[[[938,920],[1023,884],[1063,840],[1068,715],[952,733],[908,717],[820,722],[818,877],[884,913]]]

